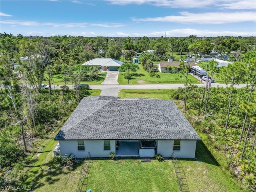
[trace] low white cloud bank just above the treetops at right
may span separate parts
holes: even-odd
[[[165,31],[151,32],[150,36],[164,36]],[[166,37],[187,37],[196,35],[198,37],[213,37],[213,36],[255,36],[255,32],[232,32],[232,31],[210,31],[210,30],[196,30],[196,29],[174,29],[166,31]]]

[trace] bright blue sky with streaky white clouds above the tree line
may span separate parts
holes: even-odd
[[[1,0],[0,32],[15,36],[256,36],[256,1]]]

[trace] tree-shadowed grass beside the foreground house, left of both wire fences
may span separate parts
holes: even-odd
[[[31,164],[26,168],[29,169],[28,178],[21,185],[31,186],[32,191],[35,192],[71,192],[76,190],[80,176],[80,165],[74,168],[60,167],[53,157],[53,149],[58,143],[53,138],[58,131],[56,129],[40,144],[42,150],[38,150],[37,154],[31,158]],[[32,164],[34,161],[36,162]]]

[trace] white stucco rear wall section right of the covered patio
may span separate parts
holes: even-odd
[[[173,140],[158,140],[157,153],[163,157],[170,157],[173,152]],[[176,157],[195,158],[196,140],[181,140],[180,151],[174,151]]]

